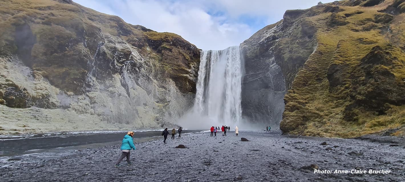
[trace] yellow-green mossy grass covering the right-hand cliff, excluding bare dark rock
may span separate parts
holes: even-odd
[[[295,94],[286,95],[287,100],[292,95],[294,98],[286,104],[284,119],[292,124],[294,122],[305,123],[290,132],[292,134],[350,138],[405,125],[405,106],[392,106],[392,109],[387,111],[387,115],[358,110],[358,122],[343,120],[344,107],[350,104],[348,98],[350,70],[360,63],[360,59],[371,48],[377,45],[384,47],[392,39],[386,38],[384,23],[377,22],[375,19],[380,14],[377,10],[384,9],[383,6],[370,8],[341,6],[341,9],[344,10],[338,14],[343,16],[358,10],[364,11],[364,13],[349,16],[344,19],[349,22],[347,25],[332,28],[325,26],[327,24],[325,21],[328,20],[331,13],[307,18],[319,28],[318,45],[294,79],[292,88]],[[405,25],[401,23],[404,19],[403,16],[400,15],[393,20],[393,37],[403,39],[405,35]],[[364,25],[368,23],[375,23],[377,27],[364,30]],[[397,42],[403,45],[402,40],[397,40]],[[394,62],[395,66],[391,67],[391,71],[396,77],[403,79],[405,76],[404,52],[400,48],[394,48],[391,53],[398,57],[398,61]],[[329,83],[326,73],[330,64],[343,65],[346,70],[343,80],[345,84],[337,92],[328,90]],[[289,111],[294,107],[298,109]]]

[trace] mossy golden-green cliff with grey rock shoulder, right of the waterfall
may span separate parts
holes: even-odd
[[[284,133],[404,134],[404,4],[343,0],[288,10],[241,44],[246,64],[273,58],[281,68]]]

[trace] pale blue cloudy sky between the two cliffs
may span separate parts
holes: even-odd
[[[320,0],[73,1],[133,25],[176,33],[203,50],[222,50],[281,20],[286,10],[310,8]]]

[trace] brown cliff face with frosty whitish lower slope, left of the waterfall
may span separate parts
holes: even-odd
[[[2,1],[0,12],[4,133],[38,122],[44,131],[162,127],[192,105],[200,50],[174,33],[71,0]]]

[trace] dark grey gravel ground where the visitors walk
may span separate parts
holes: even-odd
[[[177,137],[177,136],[176,136]],[[242,142],[245,137],[249,142]],[[170,136],[168,136],[170,138]],[[321,145],[326,142],[326,145]],[[175,146],[184,144],[185,149]],[[228,136],[209,133],[180,139],[136,144],[134,165],[119,157],[119,145],[87,149],[47,161],[16,161],[0,169],[0,181],[405,181],[405,149],[356,139],[282,136],[279,132],[231,131]],[[349,154],[351,153],[351,154]],[[312,167],[332,170],[314,174]],[[349,174],[333,174],[335,169]],[[390,170],[390,174],[350,174],[350,170]]]

